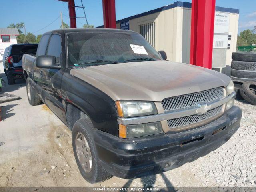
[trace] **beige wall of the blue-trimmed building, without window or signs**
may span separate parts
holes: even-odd
[[[231,63],[231,54],[236,51],[239,14],[230,14],[231,46],[226,52],[226,64]],[[175,7],[130,20],[130,30],[139,32],[139,25],[156,24],[156,50],[164,50],[167,60],[189,63],[191,8]],[[120,28],[120,23],[117,24]]]

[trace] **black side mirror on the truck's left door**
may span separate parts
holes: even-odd
[[[36,66],[44,69],[60,69],[56,64],[56,57],[52,55],[40,55],[36,58]]]

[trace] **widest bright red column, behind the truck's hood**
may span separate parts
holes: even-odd
[[[215,0],[192,0],[190,64],[212,68]]]

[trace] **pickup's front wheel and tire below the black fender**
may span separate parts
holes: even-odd
[[[76,121],[72,128],[72,146],[76,163],[83,178],[90,183],[102,182],[112,177],[100,164],[93,137],[94,131],[95,128],[88,117]]]

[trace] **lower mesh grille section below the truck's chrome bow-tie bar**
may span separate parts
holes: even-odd
[[[217,116],[218,114],[220,114],[221,111],[222,111],[222,106],[219,106],[212,110],[209,110],[208,112],[206,112],[206,114],[203,114],[203,115],[195,114],[191,116],[170,119],[170,120],[167,120],[167,123],[169,128],[188,126],[190,124],[198,123],[200,121],[207,120],[208,118]]]

